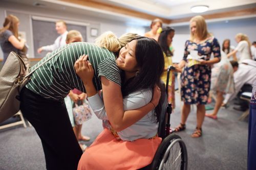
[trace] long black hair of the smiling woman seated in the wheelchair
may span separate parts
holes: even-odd
[[[163,52],[156,40],[147,37],[138,37],[136,44],[136,60],[140,68],[139,74],[127,80],[122,81],[122,94],[126,96],[134,91],[152,88],[160,84],[160,77],[164,69]],[[122,71],[122,77],[124,72]],[[160,109],[160,110],[159,110]],[[161,104],[159,102],[156,107],[157,120],[161,112]]]

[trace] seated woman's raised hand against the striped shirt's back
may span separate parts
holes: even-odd
[[[92,82],[94,77],[94,69],[90,61],[87,61],[88,55],[82,55],[80,58],[75,62],[75,70],[76,74],[82,79],[84,84],[88,82]]]

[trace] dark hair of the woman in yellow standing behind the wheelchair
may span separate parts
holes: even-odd
[[[172,27],[166,27],[162,30],[161,34],[159,35],[158,38],[158,43],[163,49],[163,52],[166,54],[166,56],[173,56],[173,53],[170,51],[170,48],[167,44],[167,36],[169,33],[175,32],[175,30]]]

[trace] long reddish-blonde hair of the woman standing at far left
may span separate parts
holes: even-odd
[[[0,30],[0,33],[3,33],[6,30],[10,30],[13,35],[18,38],[18,25],[19,19],[14,15],[8,15],[5,18],[4,27]]]

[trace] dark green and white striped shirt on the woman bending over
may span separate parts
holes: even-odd
[[[86,92],[74,68],[75,61],[83,54],[88,54],[94,68],[93,83],[97,91],[101,89],[100,76],[121,86],[120,70],[112,52],[92,43],[75,42],[58,48],[34,65],[31,70],[55,55],[33,72],[26,87],[44,98],[58,101],[74,88]]]

